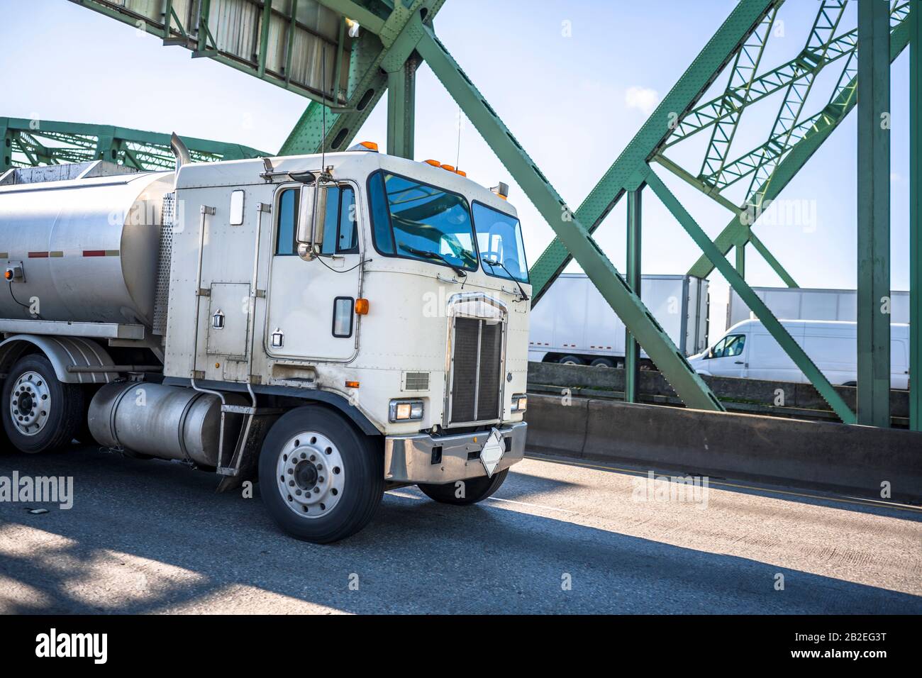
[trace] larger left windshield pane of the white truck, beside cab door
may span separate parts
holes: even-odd
[[[372,174],[368,193],[378,252],[439,266],[477,268],[464,196],[387,172]]]

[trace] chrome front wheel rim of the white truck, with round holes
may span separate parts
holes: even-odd
[[[342,497],[346,469],[333,441],[315,431],[292,436],[278,453],[276,485],[291,511],[324,517]]]

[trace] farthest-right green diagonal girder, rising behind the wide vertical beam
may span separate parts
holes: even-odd
[[[903,19],[896,24],[890,34],[890,63],[892,64],[909,43],[908,14],[902,15]],[[855,107],[855,90],[857,78],[853,78],[845,87],[839,89],[834,101],[831,101],[822,113],[816,116],[810,131],[804,135],[789,151],[785,159],[777,164],[774,169],[772,184],[768,186],[764,200],[774,200],[785,186],[794,178],[800,169],[810,160],[813,153],[822,146],[833,133],[833,130],[845,120],[845,116]],[[757,223],[756,221],[755,223]],[[738,244],[745,243],[748,239],[753,224],[741,223],[739,217],[734,217],[723,231],[715,238],[714,244],[725,256]],[[714,270],[714,265],[706,256],[701,256],[689,269],[689,275],[706,278]]]

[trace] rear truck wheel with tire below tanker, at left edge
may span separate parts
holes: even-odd
[[[83,389],[59,382],[45,356],[21,358],[6,377],[0,406],[9,442],[27,454],[67,445],[80,428],[83,401]]]

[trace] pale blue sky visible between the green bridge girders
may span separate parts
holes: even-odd
[[[435,27],[575,208],[734,5],[732,0],[448,0]],[[777,65],[798,54],[816,6],[815,0],[788,0],[779,14],[784,34],[772,38],[765,63]],[[844,25],[854,24],[854,12],[850,7]],[[181,47],[163,47],[153,36],[66,0],[6,2],[0,44],[6,91],[0,114],[13,117],[175,130],[275,152],[307,105],[296,94],[209,59],[192,59]],[[906,50],[892,67],[894,290],[908,289],[908,71]],[[826,96],[834,84],[832,73],[823,75],[816,97]],[[721,77],[715,88],[724,84]],[[814,113],[824,102],[808,100],[805,113]],[[746,126],[739,132],[741,145],[733,150],[757,145],[745,142],[754,141],[758,129],[765,129],[767,136],[764,125],[771,124],[777,105],[777,99],[770,99],[747,113],[750,118],[744,117]],[[385,115],[383,100],[359,138],[384,146]],[[802,287],[855,286],[855,118],[852,112],[781,196],[806,201],[815,218],[806,227],[755,228]],[[534,261],[553,237],[550,226],[466,120],[458,145],[457,120],[456,104],[423,65],[417,89],[418,160],[457,160],[481,184],[513,184],[510,201],[519,209],[527,255]],[[680,159],[680,153],[675,157]],[[697,171],[698,165],[700,157],[691,169]],[[706,232],[715,235],[727,225],[726,209],[668,172],[658,173]],[[597,232],[598,243],[621,269],[624,219],[621,204]],[[751,285],[782,284],[752,248],[748,251]],[[684,273],[697,256],[691,239],[646,191],[644,273]],[[723,327],[726,283],[716,275],[712,280],[712,327]]]

